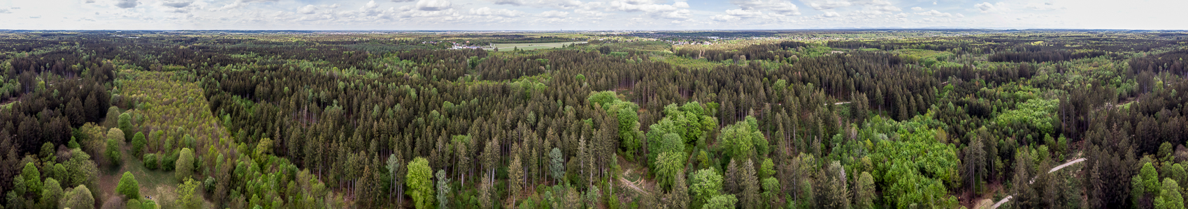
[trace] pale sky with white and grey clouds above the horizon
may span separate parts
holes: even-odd
[[[1186,0],[2,0],[0,30],[1188,30]]]

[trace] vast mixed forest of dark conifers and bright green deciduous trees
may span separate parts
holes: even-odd
[[[0,31],[0,205],[1182,209],[1183,35]]]

